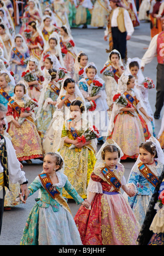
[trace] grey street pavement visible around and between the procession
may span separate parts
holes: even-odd
[[[89,57],[89,62],[94,62],[99,71],[103,68],[104,63],[107,61],[108,54],[106,49],[108,48],[108,42],[105,42],[103,39],[104,28],[72,28],[72,36],[77,45],[78,51],[83,50]],[[150,23],[142,21],[139,27],[135,28],[131,40],[127,42],[127,56],[128,57],[139,57],[142,58],[145,51],[147,50],[150,43]],[[156,66],[157,61],[154,58],[151,63],[145,66],[144,76],[150,77],[154,80],[156,85]],[[100,75],[100,74],[99,74]],[[155,110],[155,101],[156,101],[156,89],[151,89],[149,91],[149,102],[153,112]],[[161,112],[161,117],[163,114],[163,109]],[[160,130],[161,119],[155,120],[155,132],[156,135]],[[99,147],[98,147],[99,148]],[[23,162],[23,170],[26,173],[26,178],[29,181],[29,184],[33,179],[42,172],[43,162],[40,160],[32,160],[32,165],[27,165],[26,162]],[[133,160],[122,161],[122,164],[125,166],[125,178],[128,179],[128,175],[131,171],[131,168],[134,164]],[[36,192],[34,195],[27,199],[26,204],[21,204],[19,206],[13,207],[11,211],[4,211],[3,215],[3,225],[2,233],[0,237],[0,245],[19,245],[22,232],[24,230],[26,219],[28,214],[32,210],[32,207],[35,203],[35,198],[38,196]],[[69,201],[69,207],[71,208],[73,216],[77,213],[79,206],[76,205],[74,201]]]

